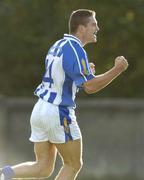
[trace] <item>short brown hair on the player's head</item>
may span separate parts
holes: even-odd
[[[79,25],[86,26],[89,17],[95,16],[96,12],[89,9],[78,9],[73,11],[69,18],[69,33],[76,33]]]

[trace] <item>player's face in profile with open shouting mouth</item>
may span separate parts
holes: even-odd
[[[95,17],[90,17],[89,22],[87,26],[85,26],[84,30],[84,37],[85,37],[85,42],[91,43],[91,42],[97,42],[97,32],[99,31],[99,27],[97,25],[97,21]]]

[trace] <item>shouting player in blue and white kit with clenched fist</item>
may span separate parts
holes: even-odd
[[[55,180],[74,180],[82,167],[82,135],[75,116],[75,95],[79,88],[95,93],[119,76],[128,67],[123,56],[104,74],[94,75],[84,45],[97,41],[99,27],[95,12],[73,11],[69,34],[56,41],[45,59],[45,74],[36,88],[38,101],[30,122],[35,161],[1,169],[1,178],[44,178],[54,169],[57,152],[63,166]]]

